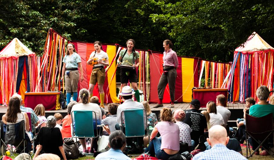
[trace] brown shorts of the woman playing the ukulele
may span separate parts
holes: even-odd
[[[92,69],[89,83],[95,85],[98,82],[98,85],[103,85],[105,83],[105,69],[104,68],[95,68]]]

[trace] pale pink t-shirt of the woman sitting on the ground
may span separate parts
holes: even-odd
[[[173,122],[162,121],[155,125],[162,137],[162,149],[180,150],[179,126]]]

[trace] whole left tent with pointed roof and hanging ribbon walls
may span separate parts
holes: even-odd
[[[17,38],[14,38],[0,52],[0,103],[7,105],[9,98],[18,92],[24,98],[25,91],[30,92],[30,75],[32,69],[29,65],[35,59],[35,53],[28,49]],[[33,64],[32,66],[36,66]]]

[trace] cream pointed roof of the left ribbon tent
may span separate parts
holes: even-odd
[[[19,57],[23,55],[35,55],[29,50],[19,39],[14,38],[5,48],[0,52],[0,58]]]

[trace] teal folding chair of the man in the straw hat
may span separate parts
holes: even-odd
[[[121,122],[123,122],[122,113],[125,115],[125,137],[145,137],[148,135],[149,128],[147,125],[147,117],[145,109],[128,109],[121,112]],[[145,124],[144,126],[144,113]],[[121,125],[121,130],[123,130]],[[145,128],[147,133],[145,134]]]

